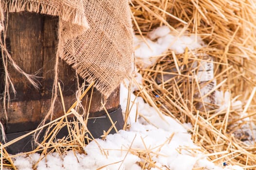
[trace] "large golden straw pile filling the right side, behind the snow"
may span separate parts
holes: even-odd
[[[206,47],[196,51],[188,49],[179,55],[167,51],[158,56],[154,66],[140,68],[145,88],[163,113],[193,125],[190,132],[194,142],[209,153],[214,163],[254,169],[254,145],[248,144],[250,140],[247,144],[242,141],[250,137],[254,140],[256,136],[249,137],[240,129],[245,124],[252,128],[255,122],[256,1],[133,0],[131,11],[136,34],[146,37],[154,28],[167,25],[177,35],[201,36]],[[183,29],[177,31],[178,28]],[[217,86],[201,96],[199,89],[213,80],[198,82],[194,72],[199,66],[192,66],[201,61],[211,62],[205,55],[213,58]],[[180,67],[184,68],[167,71]],[[172,78],[164,80],[168,74]],[[203,102],[207,96],[214,97],[216,90],[230,92],[231,100],[240,100],[243,107],[235,109],[229,99],[227,108],[222,110],[217,110],[218,105],[214,103]],[[250,121],[245,121],[248,118]],[[240,133],[236,133],[238,131]]]

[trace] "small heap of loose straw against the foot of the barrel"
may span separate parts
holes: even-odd
[[[77,151],[78,153],[85,153],[84,150],[82,149],[83,147],[86,146],[86,142],[89,143],[91,140],[94,138],[88,137],[88,135],[91,135],[90,131],[87,129],[87,121],[88,121],[88,116],[87,112],[83,110],[82,112],[79,110],[81,109],[81,104],[79,103],[86,95],[88,95],[88,91],[91,90],[91,94],[93,91],[93,83],[90,85],[81,85],[81,87],[78,90],[77,96],[78,99],[76,102],[73,103],[73,105],[67,110],[63,111],[64,115],[62,117],[59,117],[58,119],[52,120],[51,122],[40,126],[34,131],[31,131],[23,136],[20,136],[16,139],[13,139],[5,144],[0,144],[1,146],[1,154],[0,156],[0,165],[5,167],[5,168],[13,168],[14,170],[17,170],[16,166],[14,165],[13,158],[19,156],[19,155],[27,155],[30,153],[41,153],[40,158],[38,159],[37,163],[35,163],[33,169],[36,169],[37,164],[39,161],[41,161],[45,156],[49,153],[57,152],[59,155],[62,155],[65,151],[68,150],[73,150],[74,152]],[[59,89],[61,89],[60,84],[58,83]],[[59,90],[59,95],[61,102],[63,104],[63,108],[65,109],[65,104],[64,104],[64,98],[62,96],[62,91]],[[90,103],[91,103],[91,98],[89,100],[89,109],[90,109]],[[105,108],[105,107],[104,107]],[[80,114],[78,114],[78,110]],[[84,115],[88,116],[84,116]],[[73,121],[69,121],[67,118],[73,115]],[[84,116],[84,117],[83,117]],[[60,129],[63,127],[67,126],[69,135],[66,137],[63,137],[62,139],[57,139],[55,138],[56,134],[59,132]],[[38,143],[37,140],[37,134],[40,132],[43,128],[47,129],[47,132],[44,135],[43,141],[40,141]],[[110,130],[113,127],[110,128]],[[110,132],[107,131],[106,135]],[[35,137],[35,142],[37,143],[37,147],[34,151],[28,152],[28,153],[19,153],[16,155],[10,155],[6,152],[5,148],[10,146],[11,144],[17,142],[18,140],[26,137],[34,135]],[[104,137],[104,136],[103,136]],[[99,146],[100,147],[100,146]],[[2,167],[1,167],[2,168]]]

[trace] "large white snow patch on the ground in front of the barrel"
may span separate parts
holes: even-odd
[[[120,102],[125,108],[128,89],[123,84],[121,92]],[[159,170],[159,168],[162,170],[167,170],[167,168],[192,170],[195,167],[222,170],[221,167],[206,160],[203,153],[199,151],[200,148],[193,143],[190,134],[180,123],[167,116],[164,121],[142,98],[135,99],[134,94],[131,94],[131,99],[139,103],[140,114],[154,125],[148,124],[143,118],[138,118],[135,122],[136,109],[132,108],[131,126],[128,131],[120,130],[117,134],[108,135],[106,140],[95,139],[84,148],[87,154],[69,151],[62,155],[62,158],[58,153],[48,154],[39,162],[37,170],[96,170],[101,167],[102,170],[141,170],[137,163],[142,160],[133,153],[146,153],[149,150],[151,160],[156,162],[158,167],[151,170]],[[173,134],[174,136],[170,138]],[[198,152],[190,153],[185,149],[180,149],[183,147],[198,150]],[[30,154],[26,158],[18,156],[14,163],[18,170],[32,170],[38,158],[37,153]],[[232,170],[232,167],[230,168]],[[233,167],[234,170],[240,170],[239,167],[235,168]],[[229,170],[229,168],[224,170]]]

